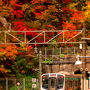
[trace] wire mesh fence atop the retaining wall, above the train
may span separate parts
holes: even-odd
[[[65,56],[68,57],[76,57],[77,55],[82,56],[82,49],[79,47],[68,47],[68,48],[45,48],[42,52],[43,60],[48,60],[51,58],[51,60],[60,60],[60,58],[63,58]],[[86,55],[90,56],[90,47],[87,47],[86,49]]]

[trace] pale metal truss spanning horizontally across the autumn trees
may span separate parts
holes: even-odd
[[[66,33],[77,32],[66,40]],[[61,43],[83,43],[73,41],[80,36],[83,30],[52,30],[52,31],[0,31],[0,44],[61,44]],[[27,35],[27,34],[30,35]],[[22,38],[21,38],[22,37]],[[59,38],[61,38],[59,41]]]

